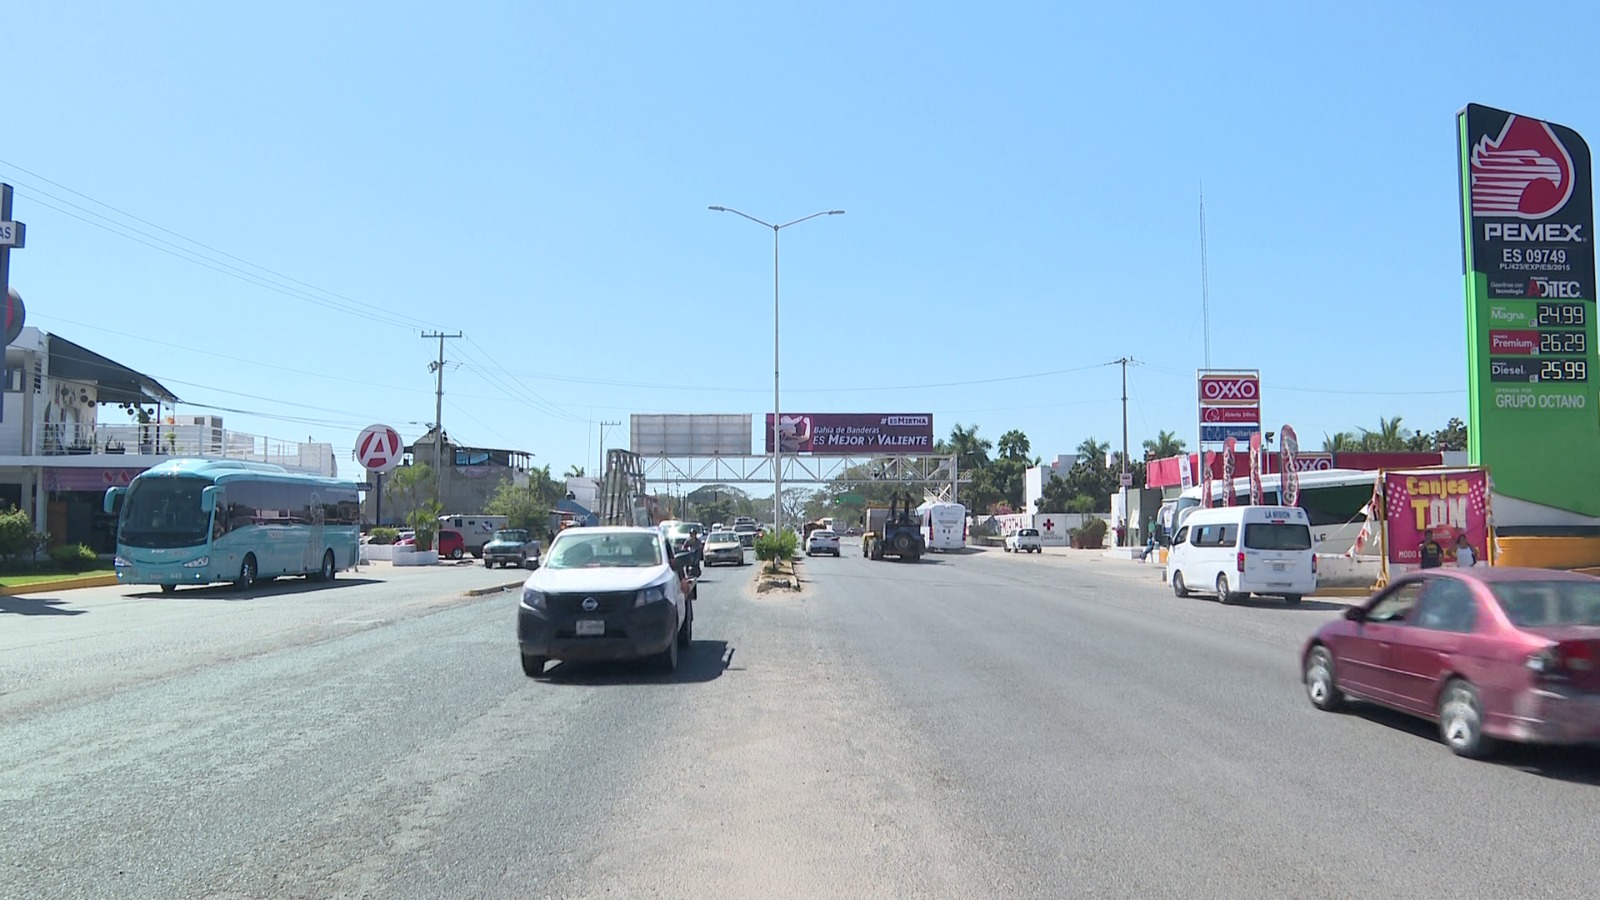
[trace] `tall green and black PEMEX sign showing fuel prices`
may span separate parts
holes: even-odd
[[[1496,493],[1600,516],[1589,146],[1488,106],[1467,106],[1456,125],[1469,460],[1490,468]]]

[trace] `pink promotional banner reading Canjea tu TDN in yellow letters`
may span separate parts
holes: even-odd
[[[1454,562],[1461,535],[1467,536],[1478,559],[1486,557],[1488,472],[1384,472],[1384,548],[1389,562],[1421,565],[1422,540],[1429,535],[1443,548],[1445,564]]]

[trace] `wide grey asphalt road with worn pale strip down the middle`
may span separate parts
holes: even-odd
[[[1336,604],[805,572],[710,570],[675,676],[541,682],[482,567],[0,597],[0,897],[1594,895],[1600,757],[1317,713]]]

